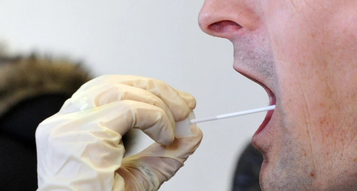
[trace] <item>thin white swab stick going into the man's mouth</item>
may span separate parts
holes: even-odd
[[[275,109],[275,105],[256,108],[256,109],[252,109],[252,110],[246,110],[246,111],[238,111],[238,112],[234,112],[234,113],[226,113],[226,114],[202,118],[202,119],[192,119],[191,123],[201,123],[201,122],[205,122],[205,121],[219,120],[219,119],[224,119],[224,118],[228,118],[228,117],[236,117],[236,116],[247,115],[247,114],[251,114],[251,113],[269,111],[269,110],[273,110],[273,109]]]

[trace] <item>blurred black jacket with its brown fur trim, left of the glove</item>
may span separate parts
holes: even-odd
[[[0,57],[0,191],[37,189],[35,131],[89,75],[67,60]]]

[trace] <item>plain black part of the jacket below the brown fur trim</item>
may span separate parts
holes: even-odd
[[[0,117],[0,190],[37,189],[36,128],[68,98],[60,94],[31,97]]]

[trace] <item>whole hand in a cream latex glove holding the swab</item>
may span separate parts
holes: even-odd
[[[38,190],[157,190],[202,139],[175,138],[195,99],[162,81],[106,75],[84,84],[36,131]],[[123,159],[121,137],[141,129],[155,143]]]

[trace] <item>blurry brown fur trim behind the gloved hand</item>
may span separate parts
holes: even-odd
[[[0,116],[32,96],[55,93],[70,97],[90,79],[81,64],[66,59],[0,56]]]

